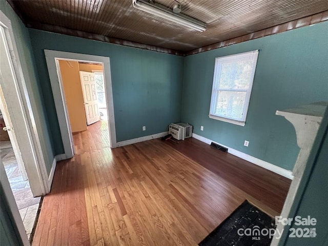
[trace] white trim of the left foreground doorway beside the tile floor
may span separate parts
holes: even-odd
[[[25,170],[29,179],[33,196],[45,195],[50,192],[45,157],[40,139],[43,132],[38,130],[40,120],[34,97],[31,96],[31,81],[25,79],[20,63],[18,50],[10,19],[0,11],[0,25],[4,28],[7,46],[7,57],[11,74],[2,71],[10,85],[2,83],[2,92],[7,104],[10,119],[15,130],[18,147],[24,161]],[[31,61],[32,62],[32,61]],[[14,91],[13,91],[14,90]],[[11,96],[14,95],[14,96]],[[8,107],[10,105],[10,107]],[[13,117],[15,116],[15,117]],[[23,147],[23,148],[22,148]]]

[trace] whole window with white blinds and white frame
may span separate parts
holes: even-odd
[[[258,50],[217,57],[209,117],[244,126]]]

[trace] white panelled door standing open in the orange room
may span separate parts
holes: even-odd
[[[87,125],[100,120],[97,104],[96,81],[93,73],[80,71],[80,79],[86,110]]]

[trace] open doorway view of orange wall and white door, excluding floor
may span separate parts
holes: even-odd
[[[73,142],[77,141],[75,135],[90,127],[99,128],[96,132],[109,135],[103,63],[61,58],[55,58],[55,61]],[[105,137],[104,141],[110,146],[108,138]]]

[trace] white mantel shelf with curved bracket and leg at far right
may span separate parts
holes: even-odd
[[[327,101],[320,101],[318,103],[276,111],[276,115],[284,116],[293,124],[296,131],[297,145],[300,148],[293,169],[294,178],[281,211],[281,216],[283,218],[287,218],[291,211],[292,204],[294,202],[298,187],[300,185],[300,181],[302,179],[306,163],[308,162],[308,158],[310,156],[314,139],[316,138],[323,118],[323,114],[327,106]],[[284,226],[282,225],[282,223],[279,223],[277,226],[277,230],[281,232],[283,228]],[[278,243],[279,239],[276,239],[274,237],[271,246],[277,246]]]

